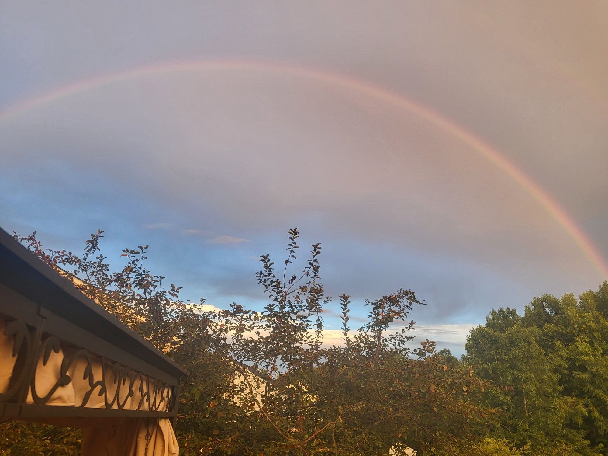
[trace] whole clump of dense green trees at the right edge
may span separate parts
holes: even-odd
[[[608,447],[608,291],[578,299],[542,295],[526,306],[491,311],[468,337],[466,359],[488,390],[483,404],[504,411],[492,435],[523,452],[603,454]],[[536,416],[534,416],[536,415]]]

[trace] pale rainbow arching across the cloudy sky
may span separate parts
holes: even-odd
[[[117,81],[123,81],[133,78],[149,77],[152,75],[173,72],[200,72],[200,71],[252,71],[252,72],[272,72],[275,74],[288,74],[294,77],[308,78],[317,80],[322,83],[333,85],[342,89],[349,89],[361,94],[369,95],[370,97],[382,100],[390,105],[398,106],[421,119],[426,120],[440,130],[446,131],[454,137],[457,137],[463,143],[466,143],[477,151],[480,155],[488,159],[496,165],[504,173],[508,174],[513,181],[517,182],[521,187],[525,188],[536,201],[563,227],[565,232],[572,237],[576,245],[584,252],[587,258],[593,263],[598,270],[601,278],[608,278],[608,264],[604,261],[602,255],[598,252],[593,243],[587,238],[587,235],[576,224],[571,216],[559,205],[557,201],[551,198],[536,182],[527,176],[522,170],[517,168],[512,162],[506,159],[495,148],[492,148],[488,143],[484,142],[479,137],[466,131],[451,119],[447,119],[441,114],[438,114],[427,106],[421,105],[410,98],[405,97],[398,92],[382,88],[381,86],[368,83],[367,81],[358,80],[353,77],[336,74],[333,72],[322,71],[319,69],[310,69],[306,67],[272,63],[267,61],[249,61],[249,60],[207,60],[207,61],[182,61],[174,63],[155,64],[151,66],[139,66],[131,69],[101,75],[98,77],[78,81],[54,91],[38,97],[30,98],[21,103],[16,103],[9,108],[0,111],[0,122],[12,119],[19,114],[37,108],[38,106],[66,97],[67,95],[76,94],[78,92],[87,91],[89,89],[100,88],[112,84]]]

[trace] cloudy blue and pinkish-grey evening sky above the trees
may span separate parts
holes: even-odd
[[[103,229],[117,265],[150,244],[218,308],[263,306],[259,257],[282,263],[298,227],[351,323],[412,289],[416,339],[460,354],[492,308],[608,278],[607,14],[4,1],[0,226],[71,250]]]

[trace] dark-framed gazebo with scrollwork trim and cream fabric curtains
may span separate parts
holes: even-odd
[[[0,229],[0,420],[83,429],[83,456],[178,454],[188,372]]]

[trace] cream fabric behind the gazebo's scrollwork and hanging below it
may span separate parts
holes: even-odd
[[[4,335],[6,322],[0,317],[0,392],[9,389],[10,378],[13,374],[16,358],[13,357],[13,338]],[[38,360],[35,374],[35,389],[39,397],[46,396],[52,387],[57,383],[61,375],[61,362],[64,356],[72,356],[76,350],[74,348],[59,348],[59,353],[50,352],[49,359],[43,364],[43,358]],[[102,359],[89,354],[91,359],[91,371],[95,381],[103,375],[108,392],[106,396],[111,402],[116,395],[117,382],[112,364],[106,362],[105,370],[102,371]],[[82,404],[85,395],[91,390],[88,378],[85,378],[85,369],[89,361],[85,356],[78,356],[68,369],[71,381],[66,385],[58,387],[50,396],[46,405],[74,407]],[[133,384],[134,395],[128,396],[127,379],[126,385],[120,389],[118,400],[125,402],[124,410],[136,410],[139,406],[143,392],[148,391],[148,378],[142,376],[137,378]],[[140,385],[143,388],[140,389]],[[97,386],[90,395],[85,407],[105,408],[105,396],[99,395],[100,387]],[[170,403],[170,392],[165,390],[164,401],[160,410]],[[126,401],[125,401],[126,400]],[[157,402],[159,398],[157,398]],[[35,403],[30,390],[27,396],[27,403]],[[112,409],[117,409],[115,401]],[[147,401],[142,403],[140,410],[148,410]],[[77,414],[77,409],[74,409]],[[46,420],[44,423],[57,424],[66,427],[83,428],[83,456],[173,456],[178,454],[178,443],[175,438],[171,421],[168,418],[56,418]]]

